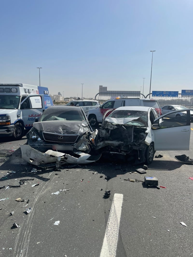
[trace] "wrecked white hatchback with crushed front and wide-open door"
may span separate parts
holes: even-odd
[[[189,150],[190,112],[166,119],[152,107],[125,106],[103,118],[96,150],[134,164],[153,161],[155,150]]]

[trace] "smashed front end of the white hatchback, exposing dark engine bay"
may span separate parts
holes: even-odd
[[[111,116],[103,121],[96,149],[105,156],[123,155],[134,164],[145,162],[145,151],[151,141],[147,122],[141,117],[120,119],[113,118],[113,113]]]

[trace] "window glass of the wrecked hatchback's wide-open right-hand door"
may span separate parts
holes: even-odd
[[[171,127],[180,127],[180,126],[188,126],[190,125],[190,115],[185,111],[185,115],[176,116],[172,118],[167,118],[159,123],[159,128],[171,128]]]

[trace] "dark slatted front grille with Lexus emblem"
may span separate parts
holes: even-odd
[[[57,142],[57,143],[75,143],[78,135],[64,135],[64,134],[56,134],[50,132],[43,132],[43,139],[49,142]]]

